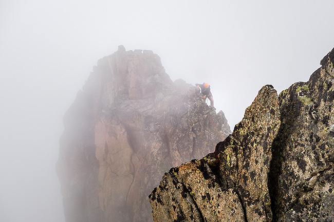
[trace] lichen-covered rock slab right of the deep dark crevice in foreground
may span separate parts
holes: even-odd
[[[271,197],[277,221],[332,221],[334,50],[307,83],[280,94],[282,126],[273,145]]]

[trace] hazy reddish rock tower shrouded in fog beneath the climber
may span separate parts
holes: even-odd
[[[152,221],[148,196],[161,175],[231,133],[159,56],[123,46],[98,61],[64,126],[57,172],[68,222]]]

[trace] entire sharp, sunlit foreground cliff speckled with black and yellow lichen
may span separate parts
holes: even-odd
[[[213,153],[166,172],[155,221],[334,221],[334,49],[307,83],[264,86]]]

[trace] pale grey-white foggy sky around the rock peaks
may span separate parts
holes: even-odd
[[[0,1],[0,221],[63,222],[62,117],[92,67],[153,50],[166,73],[211,85],[233,127],[259,89],[306,82],[334,47],[334,1]]]

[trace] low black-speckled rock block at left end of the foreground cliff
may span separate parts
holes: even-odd
[[[169,178],[172,183],[168,181]],[[170,189],[171,186],[174,188],[173,191]],[[176,196],[187,198],[175,198]],[[222,190],[219,181],[203,159],[193,160],[165,173],[159,187],[150,195],[150,199],[155,221],[175,221],[174,219],[176,221],[240,221],[244,218],[237,193],[232,189]],[[183,206],[191,207],[190,210],[185,210]],[[165,211],[169,208],[180,209],[187,214],[178,214],[179,211],[176,210]],[[164,213],[161,214],[161,211]]]

